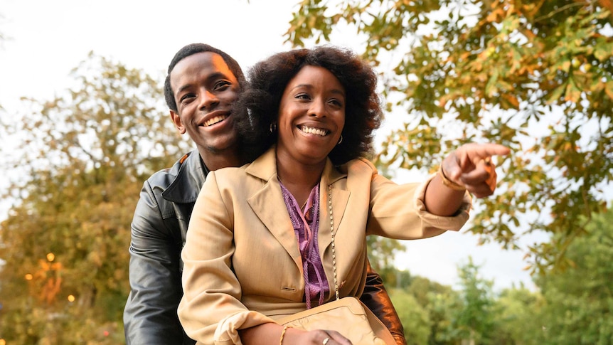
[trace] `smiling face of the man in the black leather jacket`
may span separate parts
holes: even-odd
[[[177,105],[171,117],[178,131],[187,132],[201,154],[234,149],[231,110],[240,86],[223,58],[210,52],[183,58],[172,70],[170,84]]]

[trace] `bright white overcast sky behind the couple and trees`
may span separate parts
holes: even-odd
[[[0,46],[0,105],[6,110],[1,116],[18,110],[19,97],[46,100],[65,90],[70,70],[90,51],[156,75],[166,70],[179,48],[202,42],[233,55],[246,70],[257,60],[290,48],[283,44],[283,33],[297,2],[0,0],[0,33],[7,38]],[[359,49],[354,33],[337,32],[336,37],[339,41],[332,43]],[[18,145],[3,138],[0,144]],[[395,181],[420,178],[400,172]],[[6,203],[0,203],[0,219],[4,218]],[[407,253],[396,258],[398,267],[413,275],[454,285],[457,265],[471,255],[497,289],[520,282],[533,287],[528,272],[522,270],[523,252],[495,244],[477,246],[477,238],[465,230],[404,243]]]

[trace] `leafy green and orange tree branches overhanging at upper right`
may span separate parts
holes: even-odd
[[[286,33],[302,46],[355,30],[383,71],[383,95],[405,124],[380,158],[430,169],[464,142],[513,154],[499,192],[471,225],[517,248],[529,233],[533,272],[565,267],[565,248],[606,209],[613,174],[612,1],[302,1]],[[553,236],[555,235],[555,236]]]

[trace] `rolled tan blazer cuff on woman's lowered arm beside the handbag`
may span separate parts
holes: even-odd
[[[239,329],[255,327],[269,322],[274,322],[274,320],[259,312],[239,312],[225,317],[219,322],[213,340],[215,345],[240,345],[242,342],[240,336],[238,336]]]

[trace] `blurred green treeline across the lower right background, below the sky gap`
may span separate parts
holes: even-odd
[[[479,265],[458,266],[458,286],[412,276],[390,294],[408,344],[613,344],[613,208],[570,243],[572,266],[535,280],[537,291],[495,292]]]

